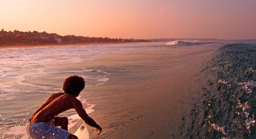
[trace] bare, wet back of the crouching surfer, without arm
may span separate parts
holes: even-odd
[[[32,114],[31,123],[49,122],[54,116],[74,108],[76,97],[64,92],[54,93]],[[79,101],[80,102],[80,101]]]

